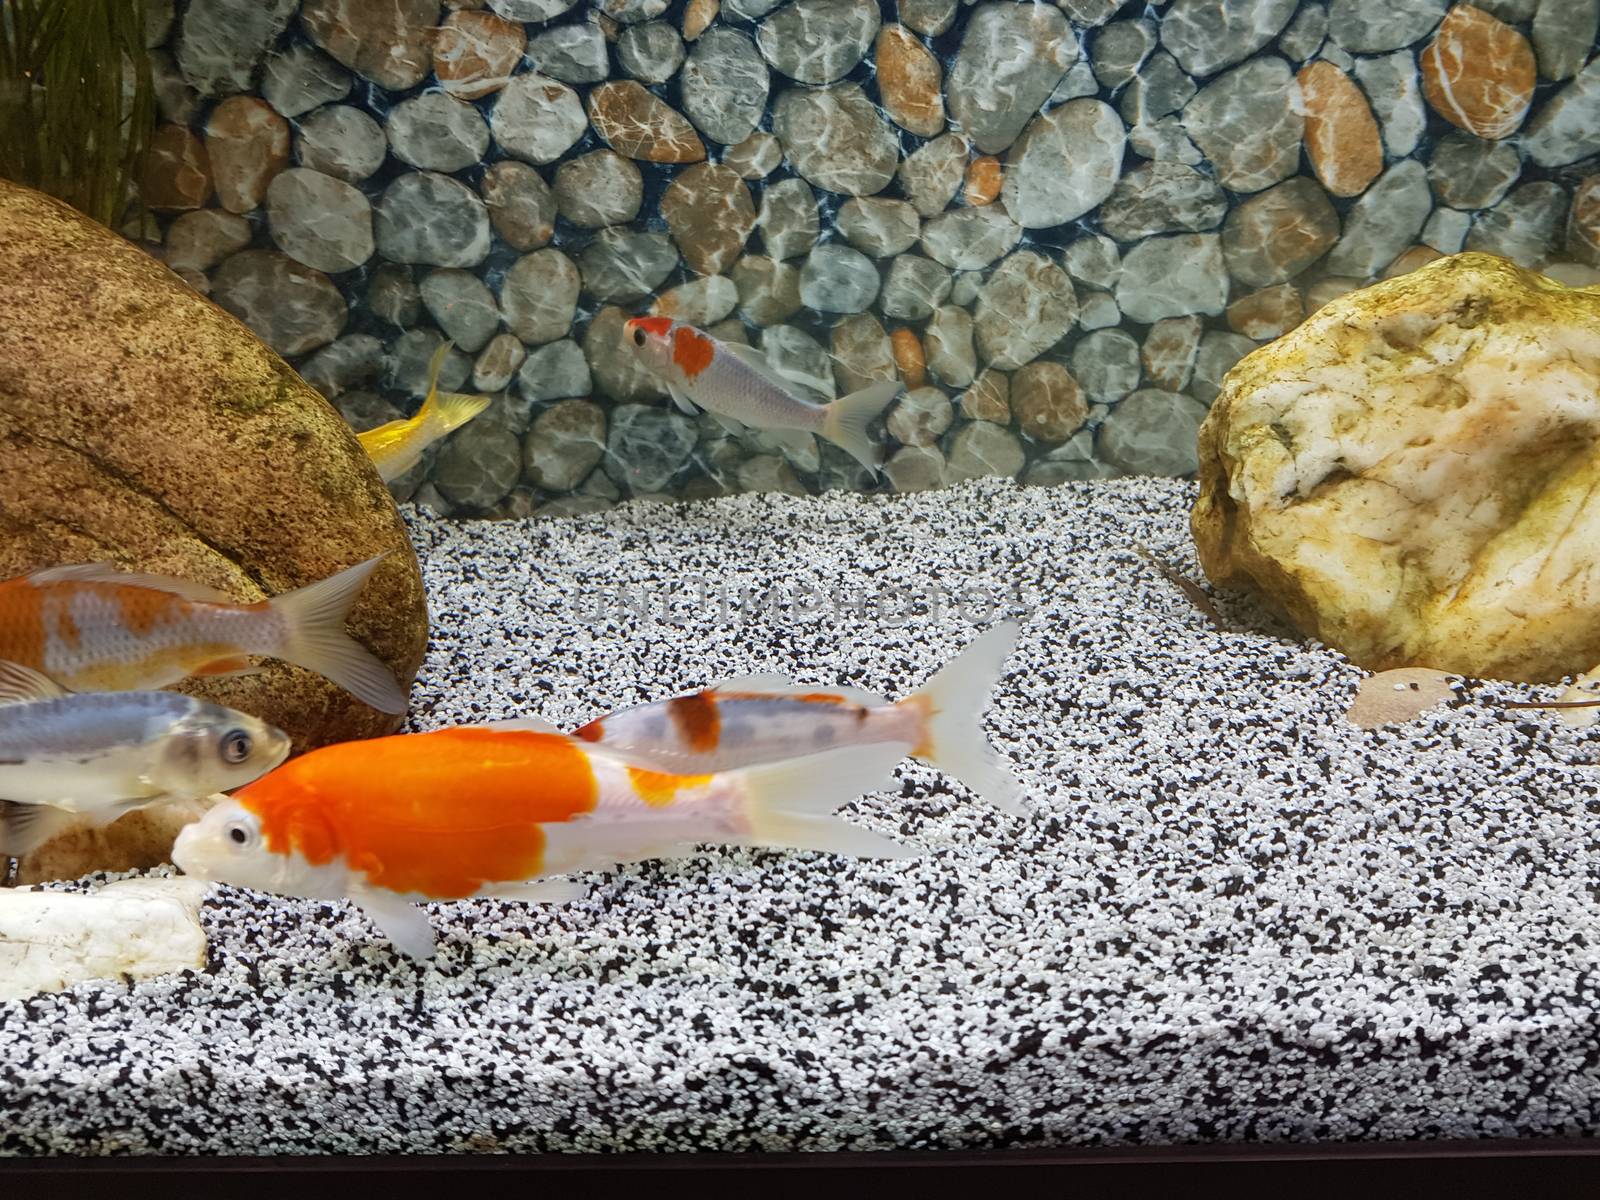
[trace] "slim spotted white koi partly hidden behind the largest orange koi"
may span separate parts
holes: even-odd
[[[979,723],[1016,635],[1014,621],[995,626],[896,704],[858,688],[750,675],[613,712],[573,736],[659,771],[730,771],[837,746],[904,742],[914,758],[1021,814],[1021,784],[1000,765]]]

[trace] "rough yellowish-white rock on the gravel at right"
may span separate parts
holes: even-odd
[[[1600,288],[1456,254],[1245,357],[1200,429],[1206,574],[1371,670],[1600,662]]]

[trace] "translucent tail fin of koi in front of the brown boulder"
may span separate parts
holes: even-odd
[[[333,680],[379,712],[405,712],[406,696],[389,667],[344,632],[355,597],[382,558],[368,558],[320,582],[272,597],[272,610],[285,626],[283,643],[274,653]]]

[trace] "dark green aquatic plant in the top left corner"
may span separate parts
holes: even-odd
[[[0,176],[104,226],[155,128],[144,0],[0,0]]]

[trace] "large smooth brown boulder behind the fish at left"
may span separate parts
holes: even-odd
[[[421,573],[339,414],[238,320],[66,205],[0,181],[0,579],[114,560],[251,602],[387,554],[349,632],[408,686],[427,643]],[[400,722],[277,661],[182,690],[282,726],[296,750]]]

